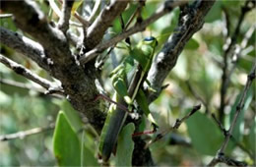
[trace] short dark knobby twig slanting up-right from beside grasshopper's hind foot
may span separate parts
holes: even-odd
[[[183,118],[181,119],[176,119],[176,122],[174,123],[174,125],[170,128],[168,128],[165,131],[162,131],[157,137],[156,139],[152,139],[150,140],[146,145],[145,145],[145,149],[148,148],[152,143],[162,139],[166,134],[170,133],[173,130],[177,130],[179,128],[179,126],[185,121],[187,120],[189,117],[191,117],[193,114],[195,114],[199,109],[201,108],[201,104],[196,105],[192,108],[192,110],[185,115]]]

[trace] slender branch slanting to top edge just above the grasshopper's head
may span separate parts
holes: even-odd
[[[160,10],[157,11],[154,15],[152,15],[149,19],[143,21],[140,24],[135,25],[132,28],[129,28],[128,30],[122,32],[119,35],[114,36],[113,38],[111,38],[110,40],[108,40],[106,42],[96,45],[96,47],[93,50],[87,52],[85,55],[83,55],[80,58],[80,63],[86,64],[87,62],[96,58],[96,56],[99,53],[101,53],[102,51],[104,51],[106,48],[115,45],[117,42],[127,38],[128,36],[138,32],[138,31],[144,30],[149,25],[151,25],[152,23],[154,23],[155,21],[160,19],[160,17],[171,12],[173,8],[182,6],[187,3],[187,1],[175,1],[173,3],[172,2],[173,1],[165,1],[164,5],[161,6]]]

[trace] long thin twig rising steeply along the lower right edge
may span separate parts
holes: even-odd
[[[248,92],[251,84],[253,83],[253,80],[255,79],[255,71],[256,71],[256,60],[255,60],[254,66],[251,69],[251,72],[248,75],[247,82],[244,86],[244,89],[242,91],[242,94],[241,94],[241,97],[238,101],[238,104],[236,105],[236,111],[234,113],[234,117],[233,117],[233,120],[231,122],[231,125],[230,125],[228,131],[226,132],[224,142],[223,142],[221,148],[219,149],[219,151],[217,152],[216,157],[214,157],[212,159],[212,161],[208,164],[208,166],[215,166],[217,163],[223,162],[222,158],[224,157],[224,150],[226,148],[226,145],[227,145],[229,139],[231,138],[232,131],[233,131],[233,128],[235,126],[236,120],[237,120],[241,110],[244,107],[244,102],[245,102],[245,97],[247,95],[247,92]]]

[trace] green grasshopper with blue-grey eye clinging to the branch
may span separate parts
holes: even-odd
[[[110,74],[116,90],[112,100],[127,106],[130,112],[136,100],[154,125],[157,124],[150,114],[147,98],[141,87],[147,79],[157,45],[155,37],[146,37],[135,48],[130,49],[130,55]],[[127,115],[128,112],[116,104],[110,105],[99,140],[99,155],[104,162],[110,157]]]

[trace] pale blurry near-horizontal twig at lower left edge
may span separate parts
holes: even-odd
[[[45,128],[39,127],[39,128],[33,128],[31,130],[27,130],[27,131],[20,131],[15,134],[2,135],[0,136],[0,141],[8,141],[11,139],[24,139],[35,134],[44,133],[44,132],[53,130],[54,127],[55,127],[54,124],[50,124],[48,127],[45,127]]]

